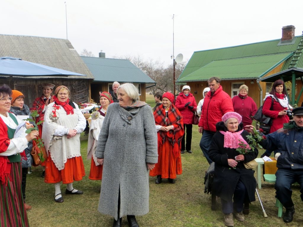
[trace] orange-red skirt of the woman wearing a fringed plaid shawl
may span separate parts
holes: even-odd
[[[161,175],[162,178],[175,179],[177,175],[182,174],[181,153],[175,157],[172,151],[172,145],[168,140],[158,146],[158,163],[155,168],[149,172],[149,176]]]

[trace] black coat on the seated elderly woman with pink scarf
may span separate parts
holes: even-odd
[[[238,130],[243,128],[243,124],[240,123]],[[244,155],[245,160],[239,162],[235,169],[228,165],[227,159],[235,159],[239,153],[234,148],[225,148],[224,145],[224,135],[219,132],[227,131],[223,121],[216,124],[217,132],[212,137],[211,144],[208,150],[209,158],[215,163],[215,178],[213,188],[215,189],[215,195],[219,196],[221,199],[232,201],[232,197],[235,192],[236,185],[239,180],[241,180],[248,193],[249,202],[255,201],[255,189],[257,186],[256,179],[254,177],[255,171],[252,169],[246,169],[244,164],[255,159],[258,156],[258,150],[255,149]],[[241,133],[241,136],[248,142],[247,135],[249,133],[245,130]]]

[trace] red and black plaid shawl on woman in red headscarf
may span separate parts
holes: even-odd
[[[180,143],[182,137],[184,135],[184,128],[183,128],[183,117],[179,110],[175,107],[175,105],[171,104],[168,109],[168,119],[165,120],[165,107],[163,104],[157,107],[154,112],[155,122],[157,125],[161,126],[169,126],[173,125],[174,129],[169,130],[168,132],[159,131],[158,134],[158,144],[165,142],[166,138],[173,146],[173,154],[177,156],[178,153],[181,151]],[[160,137],[159,137],[160,135]],[[176,143],[177,142],[177,143]]]

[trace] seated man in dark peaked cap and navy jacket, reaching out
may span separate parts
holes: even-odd
[[[301,200],[303,201],[303,107],[292,110],[293,122],[285,123],[284,127],[266,136],[260,144],[264,149],[278,150],[278,170],[276,172],[276,197],[285,207],[283,221],[288,223],[295,213],[291,199],[291,184],[300,185]],[[252,126],[248,126],[252,128]]]

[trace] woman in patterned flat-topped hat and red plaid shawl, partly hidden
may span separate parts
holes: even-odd
[[[36,123],[40,120],[44,120],[44,113],[46,110],[46,107],[48,104],[54,102],[52,99],[52,92],[55,87],[55,84],[50,84],[50,83],[43,83],[42,85],[42,95],[34,100],[32,108],[30,108],[30,111],[38,111],[39,116],[36,117]],[[42,137],[42,126],[43,123],[38,125],[39,129],[39,137]],[[35,146],[35,144],[34,144]],[[45,176],[45,161],[41,163],[41,166],[43,167],[42,175],[41,177]]]

